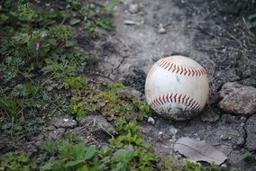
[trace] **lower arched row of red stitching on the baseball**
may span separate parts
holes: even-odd
[[[201,105],[194,98],[186,94],[160,94],[151,100],[151,106],[156,107],[164,103],[181,103],[187,106],[187,110],[200,111]]]

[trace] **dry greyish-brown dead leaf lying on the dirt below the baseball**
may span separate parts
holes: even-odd
[[[221,165],[228,157],[210,144],[187,137],[180,138],[174,144],[174,150],[194,161],[206,161]]]

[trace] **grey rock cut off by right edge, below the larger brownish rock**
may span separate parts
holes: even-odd
[[[250,150],[256,150],[256,114],[252,115],[245,123],[247,138],[245,146]]]

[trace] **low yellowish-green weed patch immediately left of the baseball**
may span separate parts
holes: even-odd
[[[78,116],[101,112],[109,121],[121,116],[142,121],[143,117],[151,115],[150,106],[123,92],[121,83],[102,82],[93,87],[78,76],[68,78],[65,87],[74,92],[69,109]]]

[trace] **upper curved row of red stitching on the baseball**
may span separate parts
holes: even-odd
[[[178,66],[165,59],[160,59],[157,65],[173,73],[183,75],[183,76],[206,76],[207,74],[206,69],[204,68]]]

